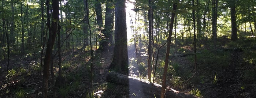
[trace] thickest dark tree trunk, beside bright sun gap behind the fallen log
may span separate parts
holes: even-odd
[[[111,68],[116,71],[128,74],[128,52],[127,52],[127,31],[125,1],[115,0],[115,48]]]

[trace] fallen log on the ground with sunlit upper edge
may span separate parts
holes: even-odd
[[[152,83],[149,83],[148,81],[132,78],[114,71],[108,73],[107,81],[129,86],[130,91],[139,91],[140,93],[143,93],[142,96],[145,98],[149,98],[149,96],[151,96],[151,98],[160,98],[162,86],[156,83],[152,85]],[[172,88],[168,88],[165,95],[166,98],[198,98],[194,95],[176,91]]]

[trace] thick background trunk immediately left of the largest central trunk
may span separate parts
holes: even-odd
[[[102,42],[103,50],[113,50],[114,3],[107,1],[105,12],[105,40]],[[110,46],[110,48],[109,48]]]

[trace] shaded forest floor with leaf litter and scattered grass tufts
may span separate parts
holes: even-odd
[[[256,67],[255,63],[246,61],[246,51],[255,51],[248,48],[242,50],[219,48],[215,51],[205,51],[205,48],[198,49],[198,72],[189,79],[193,70],[193,49],[191,46],[173,48],[171,54],[172,64],[178,65],[175,76],[180,76],[182,82],[175,81],[179,85],[173,85],[175,77],[168,73],[167,86],[175,90],[191,93],[198,92],[205,98],[256,98]],[[140,52],[141,60],[146,60],[146,52]],[[210,53],[210,54],[208,54]],[[163,57],[164,50],[159,54]],[[202,56],[202,54],[204,54]],[[218,57],[221,54],[223,58]],[[109,72],[108,66],[112,61],[112,52],[96,52],[94,58],[94,75],[91,76],[91,59],[87,51],[76,50],[75,52],[63,52],[62,66],[65,84],[57,88],[57,95],[66,98],[148,98],[142,87],[129,87],[111,82],[106,82],[106,75]],[[208,56],[209,55],[209,56]],[[205,57],[206,56],[206,57]],[[129,62],[133,62],[135,50],[129,50]],[[55,78],[57,77],[57,59],[54,59]],[[160,62],[160,61],[159,61]],[[146,63],[146,62],[145,62]],[[173,67],[174,67],[173,65]],[[66,66],[66,67],[64,67]],[[134,73],[139,70],[134,65]],[[24,56],[11,56],[9,66],[9,83],[7,87],[7,60],[0,62],[0,98],[40,98],[42,88],[42,69],[40,60],[36,54],[30,53]],[[131,70],[130,70],[131,71]],[[191,73],[189,73],[191,72]],[[141,72],[142,73],[142,72]],[[183,73],[183,74],[182,74]],[[186,73],[187,75],[184,75]],[[136,74],[137,75],[137,74]],[[181,79],[182,78],[182,79]],[[93,79],[93,82],[91,81]],[[185,82],[186,81],[186,82]],[[160,84],[160,83],[159,83]],[[141,89],[137,89],[141,88]],[[149,90],[149,89],[148,89]],[[49,95],[53,93],[52,78],[49,79]],[[93,94],[93,97],[91,96]],[[20,97],[22,96],[22,97]],[[49,96],[52,97],[52,96]],[[158,97],[158,96],[157,96]]]

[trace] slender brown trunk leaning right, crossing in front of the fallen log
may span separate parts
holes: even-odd
[[[173,4],[172,10],[175,12],[177,10],[177,5],[175,3]],[[169,34],[168,34],[166,56],[165,56],[165,60],[164,60],[164,74],[163,74],[163,84],[162,84],[162,89],[161,89],[161,98],[164,98],[164,93],[165,93],[165,88],[166,88],[166,75],[167,75],[167,68],[168,68],[168,63],[169,63],[171,35],[172,35],[172,29],[173,29],[173,24],[174,24],[175,12],[171,13],[170,30],[169,30]]]

